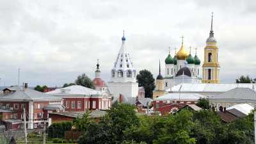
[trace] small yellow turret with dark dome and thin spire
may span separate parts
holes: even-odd
[[[153,99],[161,97],[162,95],[166,95],[166,91],[164,90],[164,79],[161,75],[159,61],[159,75],[156,77],[156,89],[153,91]]]

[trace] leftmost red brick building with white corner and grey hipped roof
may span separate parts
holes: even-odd
[[[3,90],[0,98],[0,114],[7,129],[18,129],[24,118],[23,109],[26,109],[26,127],[28,129],[41,127],[47,118],[48,112],[64,111],[63,99],[47,95],[23,86],[12,86]],[[56,108],[58,107],[58,108]]]

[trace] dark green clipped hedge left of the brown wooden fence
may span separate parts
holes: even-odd
[[[65,138],[65,131],[72,130],[72,122],[55,122],[48,127],[49,138]]]

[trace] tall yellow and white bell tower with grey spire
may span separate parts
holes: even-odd
[[[202,83],[220,83],[220,63],[218,60],[219,48],[216,45],[216,38],[213,36],[214,33],[212,31],[212,22],[210,32],[210,36],[206,40],[206,47],[204,48]]]

